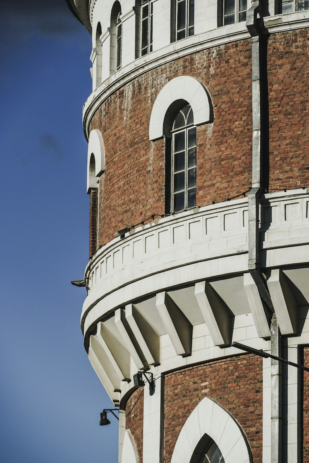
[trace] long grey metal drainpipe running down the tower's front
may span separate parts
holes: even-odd
[[[261,3],[252,1],[246,26],[252,38],[252,189],[248,196],[248,270],[268,307],[271,354],[281,357],[281,335],[265,279],[259,269],[259,203],[263,188],[262,44],[257,24]],[[281,364],[271,360],[271,463],[281,463]]]

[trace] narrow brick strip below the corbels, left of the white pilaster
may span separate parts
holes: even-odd
[[[126,402],[126,429],[130,429],[139,463],[143,463],[144,388],[136,389]]]

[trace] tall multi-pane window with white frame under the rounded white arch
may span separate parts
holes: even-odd
[[[190,105],[176,114],[172,129],[171,211],[195,207],[196,127]]]

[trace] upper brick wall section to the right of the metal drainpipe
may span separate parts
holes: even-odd
[[[268,41],[270,188],[309,180],[309,31],[273,34]]]

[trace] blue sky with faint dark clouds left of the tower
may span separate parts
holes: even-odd
[[[65,0],[0,0],[0,461],[118,461],[82,344],[91,38]]]

